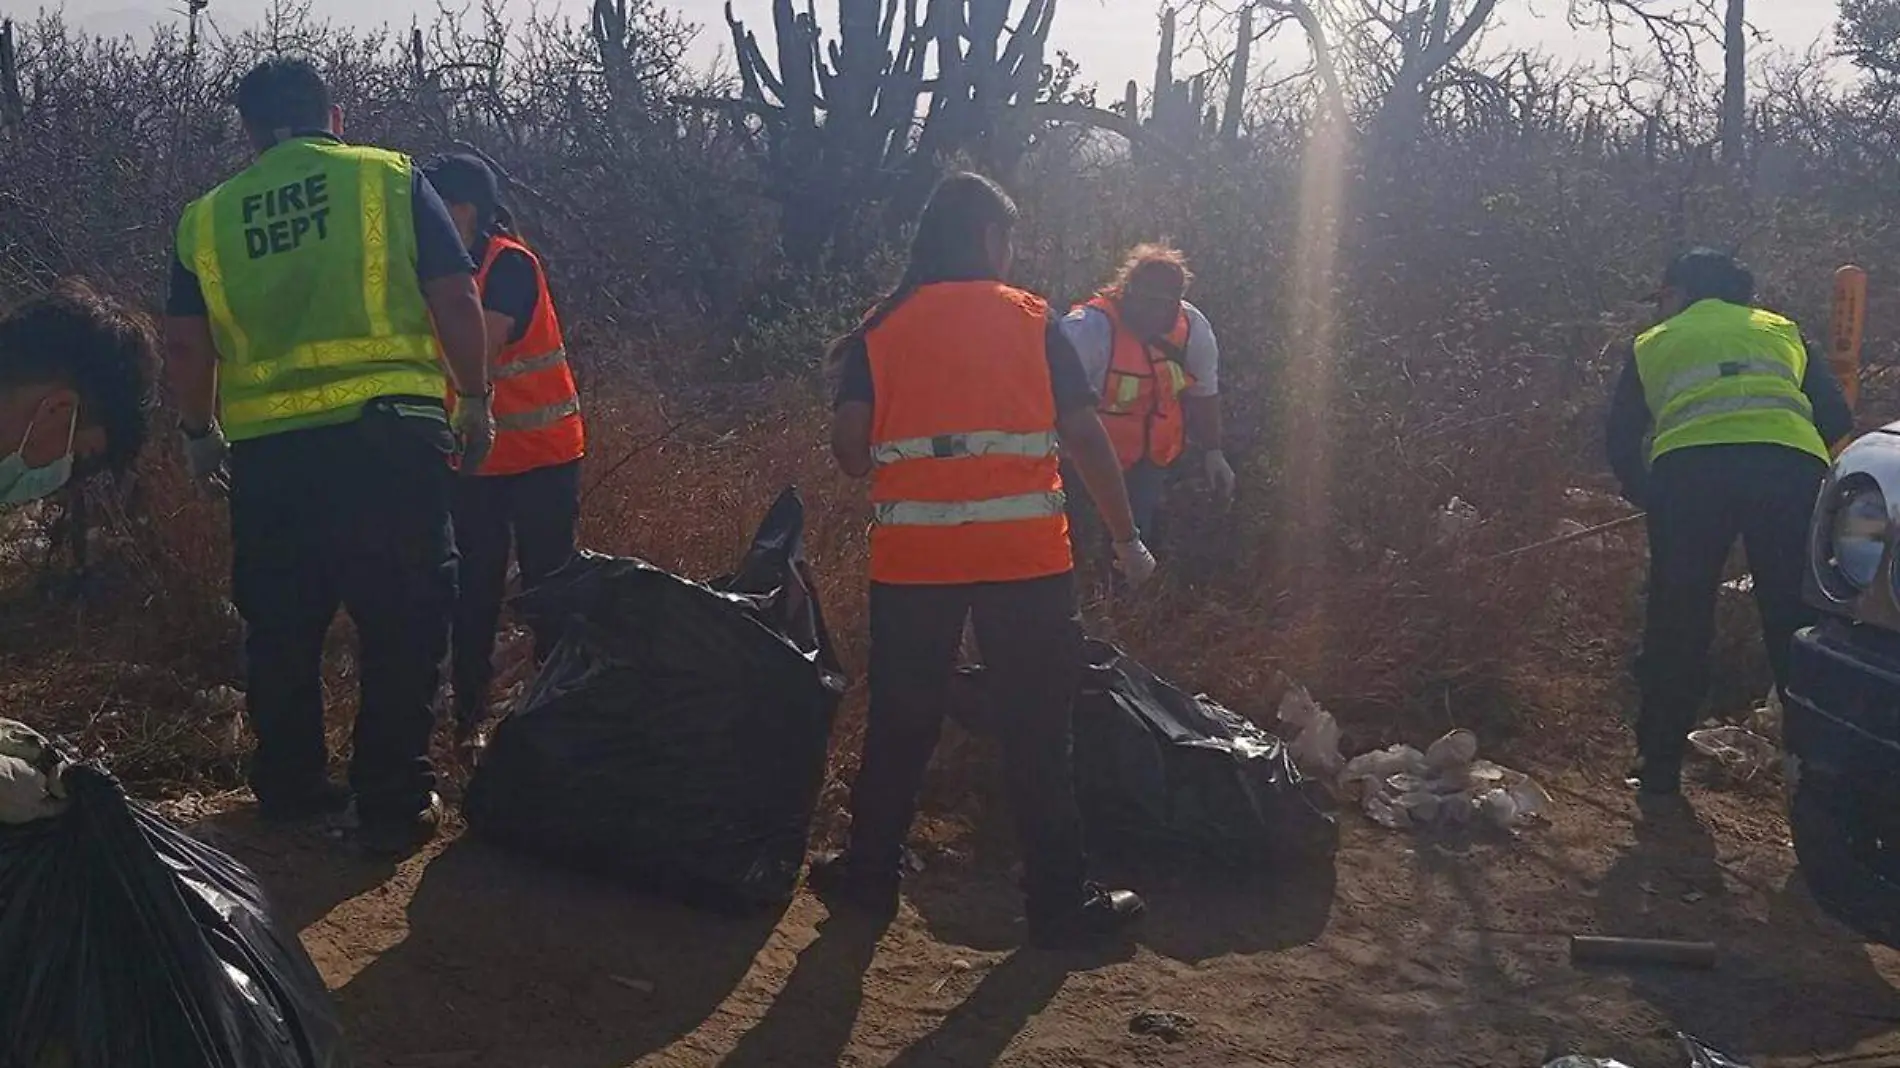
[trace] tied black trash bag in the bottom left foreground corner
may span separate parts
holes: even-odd
[[[61,815],[0,825],[0,1068],[348,1068],[256,878],[93,766],[63,783]]]

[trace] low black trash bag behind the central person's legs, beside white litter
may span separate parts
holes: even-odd
[[[1326,857],[1340,844],[1326,791],[1286,745],[1089,639],[1075,697],[1075,800],[1102,855],[1269,867]],[[982,669],[961,671],[954,715],[994,734]]]

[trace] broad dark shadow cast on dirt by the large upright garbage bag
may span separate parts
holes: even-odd
[[[777,914],[724,918],[460,840],[424,870],[408,937],[338,992],[390,1062],[618,1068],[692,1032]]]

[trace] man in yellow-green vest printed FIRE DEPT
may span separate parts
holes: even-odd
[[[179,220],[165,365],[192,473],[230,492],[251,789],[281,821],[353,794],[361,846],[405,853],[441,819],[450,462],[479,466],[494,441],[475,266],[407,156],[340,139],[310,63],[260,63],[236,103],[256,160]],[[323,741],[338,608],[361,644],[348,791]]]

